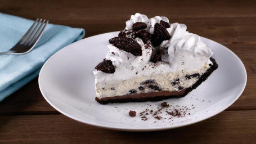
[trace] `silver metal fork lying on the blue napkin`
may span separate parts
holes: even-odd
[[[30,52],[35,44],[37,44],[38,40],[43,34],[44,29],[46,29],[47,24],[48,20],[35,20],[34,24],[29,28],[28,31],[26,31],[25,35],[23,35],[19,42],[17,42],[17,44],[15,44],[15,46],[9,51],[0,52],[0,55],[21,55]]]

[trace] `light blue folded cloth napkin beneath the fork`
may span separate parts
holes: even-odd
[[[0,52],[10,50],[34,23],[0,12]],[[84,29],[48,24],[34,49],[24,55],[0,55],[0,101],[38,76],[44,62],[84,37]]]

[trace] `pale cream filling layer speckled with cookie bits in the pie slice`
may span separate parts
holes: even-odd
[[[204,68],[200,69],[200,71],[196,71],[195,73],[203,74],[209,68],[209,65],[206,65]],[[178,71],[177,73],[164,73],[164,74],[155,74],[152,73],[150,75],[141,75],[140,77],[132,77],[131,79],[119,79],[119,80],[106,80],[101,83],[97,83],[96,88],[96,97],[104,98],[104,97],[114,97],[114,96],[123,96],[129,94],[129,91],[132,89],[136,90],[136,93],[147,93],[147,92],[158,92],[150,89],[149,87],[143,86],[141,82],[146,80],[155,80],[156,84],[152,84],[154,86],[158,86],[161,88],[161,91],[179,91],[179,87],[189,88],[193,84],[197,82],[199,77],[194,77],[187,79],[186,75],[192,75],[195,73],[187,73],[186,71]],[[127,73],[125,73],[127,74]],[[177,84],[172,84],[175,80],[178,80]],[[143,91],[139,89],[139,87],[143,87]]]

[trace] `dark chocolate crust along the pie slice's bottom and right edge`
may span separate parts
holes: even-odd
[[[125,95],[125,96],[115,96],[115,97],[105,97],[105,98],[95,98],[97,102],[100,104],[107,104],[107,103],[124,103],[124,102],[145,102],[145,101],[161,101],[168,98],[180,98],[185,97],[188,93],[190,93],[193,89],[197,88],[201,83],[203,83],[210,74],[213,73],[214,70],[218,68],[218,64],[210,57],[210,60],[213,62],[213,65],[210,66],[201,77],[197,80],[193,86],[190,88],[182,89],[181,91],[161,91],[161,92],[151,92],[151,93],[138,93],[133,95]]]

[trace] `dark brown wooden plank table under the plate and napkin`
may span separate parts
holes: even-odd
[[[97,128],[60,114],[44,100],[35,78],[0,102],[0,143],[256,143],[256,2],[0,0],[0,12],[84,28],[86,38],[124,29],[136,12],[167,16],[230,48],[248,75],[241,97],[222,113],[187,127],[140,133]]]

